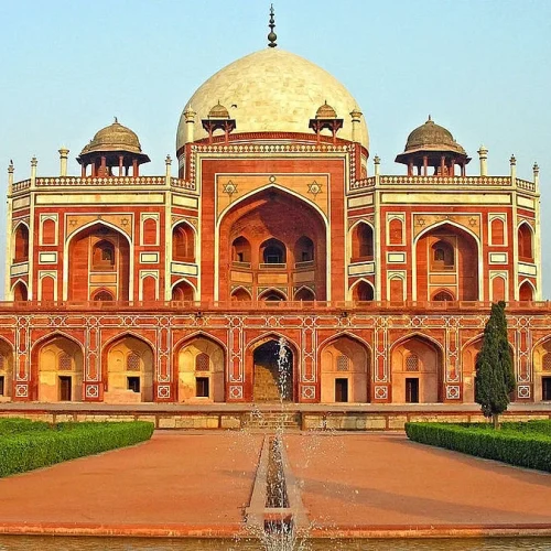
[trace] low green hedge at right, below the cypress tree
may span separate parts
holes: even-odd
[[[549,421],[503,423],[501,426],[496,431],[487,424],[406,423],[406,434],[422,444],[551,472]]]

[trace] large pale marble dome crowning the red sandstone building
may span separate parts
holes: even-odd
[[[325,101],[344,119],[337,137],[352,140],[350,111],[359,106],[350,93],[317,65],[279,47],[267,47],[241,57],[218,71],[187,101],[184,111],[196,112],[194,140],[206,138],[201,121],[213,106],[220,102],[231,119],[235,133],[301,132],[310,133],[310,119],[315,118]],[[176,151],[185,143],[185,117],[177,128]],[[360,143],[368,149],[367,126],[361,117]]]

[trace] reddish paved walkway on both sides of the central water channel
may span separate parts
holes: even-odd
[[[551,533],[551,475],[396,433],[285,439],[310,519],[332,532],[520,527]],[[138,446],[0,479],[0,532],[234,534],[241,530],[261,440],[158,432]]]

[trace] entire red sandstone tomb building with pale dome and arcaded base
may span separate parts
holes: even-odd
[[[551,400],[538,166],[489,175],[429,117],[385,175],[348,90],[270,41],[198,87],[164,174],[117,120],[78,175],[9,166],[0,400],[270,402],[283,337],[290,402],[468,404],[498,300],[514,400]]]

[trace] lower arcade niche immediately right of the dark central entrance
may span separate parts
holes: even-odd
[[[321,352],[321,401],[368,402],[370,398],[370,354],[358,341],[337,337]]]

